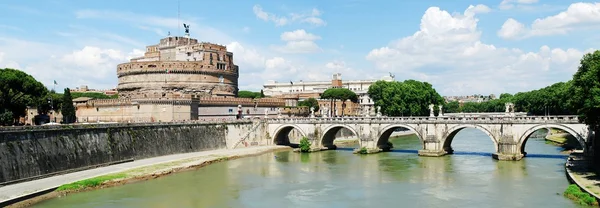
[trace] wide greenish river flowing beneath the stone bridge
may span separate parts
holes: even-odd
[[[476,129],[461,131],[444,157],[417,156],[415,136],[391,141],[393,152],[268,153],[35,207],[582,207],[562,195],[566,156],[541,138],[529,139],[521,161],[492,159],[492,141]]]

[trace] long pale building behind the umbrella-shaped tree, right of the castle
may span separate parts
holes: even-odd
[[[393,81],[391,76],[384,76],[380,80]],[[320,98],[321,94],[329,88],[347,88],[358,96],[359,106],[352,105],[346,102],[347,107],[344,109],[344,115],[364,115],[365,112],[372,112],[374,103],[367,93],[369,87],[379,80],[348,80],[343,81],[340,73],[333,74],[330,81],[308,81],[304,82],[277,82],[268,81],[263,85],[263,93],[266,96],[277,98],[297,97],[299,100],[307,98]],[[329,101],[319,101],[319,114],[327,114],[325,111],[332,109]],[[333,115],[341,115],[341,102],[334,103],[336,109]],[[350,112],[349,112],[350,111]]]

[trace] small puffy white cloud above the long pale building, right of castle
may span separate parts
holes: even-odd
[[[286,44],[272,48],[281,53],[314,53],[321,51],[321,48],[314,42],[319,39],[321,37],[305,30],[284,32],[281,34],[281,40],[286,41]]]

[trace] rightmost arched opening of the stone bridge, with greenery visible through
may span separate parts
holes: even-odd
[[[554,124],[535,126],[522,135],[521,154],[529,156],[569,154],[585,148],[584,137],[575,130]]]

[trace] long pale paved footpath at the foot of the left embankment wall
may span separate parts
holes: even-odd
[[[260,146],[242,149],[220,149],[173,154],[11,184],[0,187],[0,206],[11,204],[12,201],[15,200],[20,201],[19,199],[21,198],[29,198],[31,196],[52,192],[63,184],[69,184],[97,176],[126,172],[133,169],[136,169],[137,175],[154,175],[158,172],[168,172],[177,168],[185,169],[195,167],[205,162],[216,161],[223,158],[251,156],[288,148],[289,147],[282,146]]]

